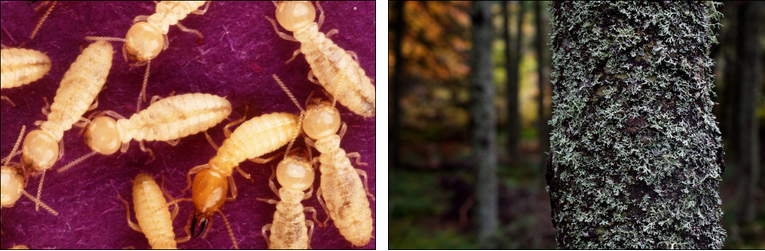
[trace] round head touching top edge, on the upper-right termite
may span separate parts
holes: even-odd
[[[276,7],[276,20],[288,31],[300,30],[315,19],[316,9],[309,1],[282,1]]]

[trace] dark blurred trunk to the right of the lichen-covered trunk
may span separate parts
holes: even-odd
[[[760,80],[760,23],[762,2],[749,2],[738,6],[738,37],[736,38],[736,76],[738,109],[735,110],[738,133],[738,159],[744,170],[744,189],[740,203],[738,223],[754,222],[754,193],[759,173],[759,135],[755,110],[759,104]]]

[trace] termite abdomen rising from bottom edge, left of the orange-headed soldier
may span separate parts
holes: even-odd
[[[177,249],[177,243],[186,242],[191,239],[191,236],[175,238],[173,220],[178,215],[178,206],[176,205],[171,216],[163,193],[170,200],[173,200],[173,197],[164,188],[159,188],[151,176],[141,173],[135,177],[135,181],[133,181],[133,206],[138,224],[130,220],[130,204],[119,195],[117,196],[125,202],[128,226],[146,235],[146,239],[149,240],[149,245],[153,249]]]

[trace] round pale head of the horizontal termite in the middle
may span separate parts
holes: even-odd
[[[84,137],[90,149],[104,155],[117,152],[121,145],[117,121],[107,116],[94,119],[85,130]]]

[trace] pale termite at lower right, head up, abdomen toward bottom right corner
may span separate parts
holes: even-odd
[[[278,78],[275,77],[275,79],[300,108],[297,100],[289,94],[287,87]],[[342,123],[340,128],[340,111],[335,108],[334,102],[310,97],[308,101],[310,103],[306,104],[303,131],[310,138],[306,137],[305,143],[306,146],[315,147],[321,153],[318,157],[321,162],[321,183],[316,197],[322,207],[325,207],[321,200],[324,195],[327,209],[325,211],[329,212],[340,234],[354,246],[364,246],[372,238],[373,230],[372,211],[369,209],[366,195],[369,195],[372,200],[375,197],[369,193],[366,171],[354,170],[349,157],[355,157],[358,165],[367,164],[360,162],[361,155],[358,152],[346,154],[345,150],[340,148],[340,140],[345,135],[347,126]],[[338,129],[340,133],[335,134]],[[363,185],[359,175],[364,177]]]

